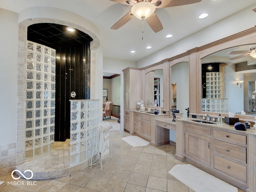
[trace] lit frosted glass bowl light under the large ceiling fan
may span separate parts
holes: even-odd
[[[138,2],[131,8],[132,14],[138,19],[146,19],[150,17],[155,10],[156,7],[154,4],[147,1]]]

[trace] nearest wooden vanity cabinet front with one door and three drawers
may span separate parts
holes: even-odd
[[[184,123],[184,136],[187,162],[242,189],[248,188],[248,174],[251,174],[248,170],[248,135],[208,125]]]

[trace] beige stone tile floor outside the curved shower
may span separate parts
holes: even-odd
[[[0,185],[0,192],[193,192],[168,173],[174,165],[181,164],[174,157],[175,146],[132,147],[122,140],[129,135],[114,132],[113,159],[103,160],[102,171],[97,164],[92,169],[88,167],[52,180],[27,182],[20,178],[20,185],[8,184],[14,179],[2,176],[0,181],[4,184]]]

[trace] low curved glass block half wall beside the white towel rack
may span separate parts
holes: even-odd
[[[90,159],[97,152],[99,103],[100,100],[70,100],[70,166]]]

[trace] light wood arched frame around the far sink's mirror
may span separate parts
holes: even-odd
[[[163,100],[164,100],[164,104],[163,107],[161,107],[162,110],[169,110],[169,88],[168,88],[168,81],[169,80],[169,70],[168,70],[168,62],[163,62],[163,63],[156,63],[147,67],[142,68],[142,99],[144,100],[144,104],[146,108],[150,108],[150,107],[154,107],[154,106],[149,106],[148,102],[145,100],[146,99],[146,74],[148,72],[154,71],[154,70],[158,70],[158,69],[163,69]],[[154,85],[152,85],[154,86]],[[154,101],[153,101],[154,102]],[[157,107],[160,108],[160,107]]]

